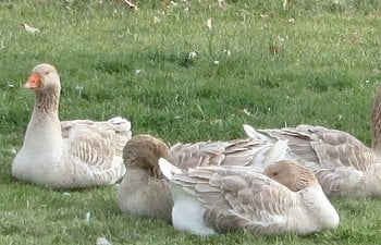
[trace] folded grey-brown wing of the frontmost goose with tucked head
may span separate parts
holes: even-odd
[[[206,222],[219,232],[280,233],[298,206],[295,193],[253,168],[190,169],[174,174],[173,182],[206,207]]]

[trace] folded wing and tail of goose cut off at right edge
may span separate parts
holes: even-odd
[[[250,137],[288,140],[291,152],[304,159],[310,169],[348,167],[365,171],[378,161],[370,148],[343,131],[305,124],[297,127],[258,131],[245,125],[245,131]]]

